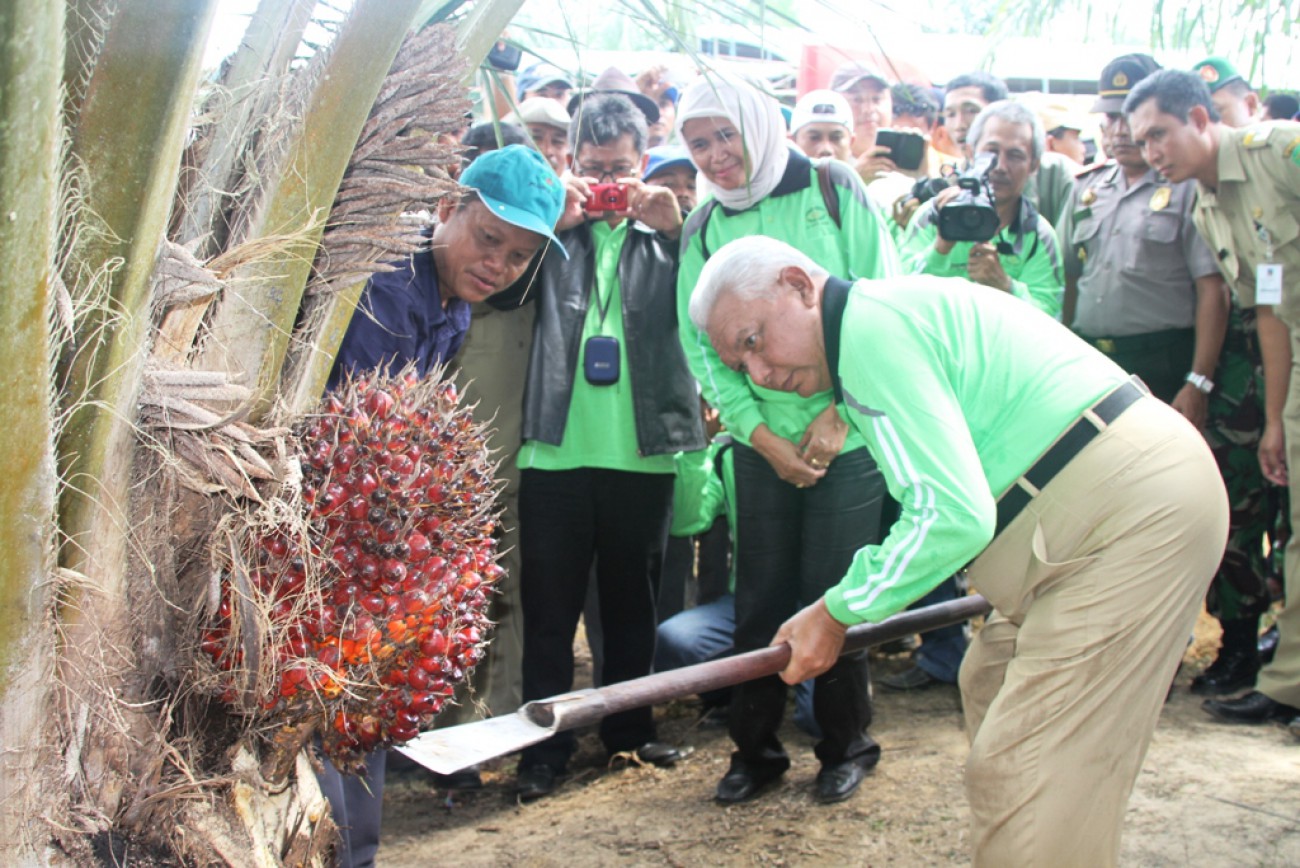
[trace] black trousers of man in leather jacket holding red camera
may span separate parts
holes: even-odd
[[[603,628],[598,682],[650,674],[672,482],[671,473],[593,468],[523,472],[524,702],[573,686],[573,637],[593,559]],[[601,721],[601,741],[611,754],[654,738],[651,708]],[[572,732],[558,733],[524,750],[520,765],[563,771],[576,746]]]

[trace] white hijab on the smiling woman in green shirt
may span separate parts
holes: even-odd
[[[781,107],[737,75],[712,71],[697,78],[682,94],[677,104],[677,139],[685,140],[681,127],[686,121],[705,117],[731,121],[750,161],[749,183],[736,190],[710,185],[714,196],[732,211],[744,211],[764,199],[780,183],[790,159]],[[690,161],[694,164],[696,159]]]

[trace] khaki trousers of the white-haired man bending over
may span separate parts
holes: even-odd
[[[976,865],[1115,864],[1227,518],[1205,440],[1143,398],[971,565],[994,607],[961,670]]]

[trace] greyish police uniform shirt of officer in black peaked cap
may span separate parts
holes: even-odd
[[[1218,272],[1192,223],[1196,183],[1150,169],[1130,185],[1108,162],[1078,179],[1061,226],[1065,272],[1079,286],[1071,327],[1124,338],[1196,324],[1199,277]]]

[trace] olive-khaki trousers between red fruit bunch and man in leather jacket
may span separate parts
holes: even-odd
[[[480,719],[480,703],[491,715],[507,715],[523,703],[524,613],[519,596],[519,468],[515,460],[524,428],[524,376],[532,346],[533,305],[498,311],[476,304],[469,334],[454,361],[464,402],[477,402],[474,420],[494,429],[488,446],[493,459],[500,461],[497,478],[506,482],[500,494],[504,535],[498,548],[504,552],[499,563],[506,574],[491,603],[490,616],[497,628],[488,656],[469,680],[473,694],[468,702],[458,696],[462,706],[443,712],[438,717],[439,726]]]

